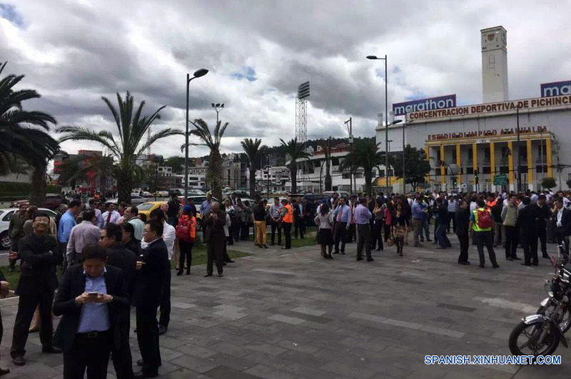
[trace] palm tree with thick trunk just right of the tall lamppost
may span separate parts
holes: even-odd
[[[196,129],[190,131],[191,134],[200,138],[200,143],[188,143],[192,146],[206,146],[210,150],[210,165],[208,165],[208,173],[206,174],[206,181],[210,182],[212,196],[218,200],[222,200],[222,157],[220,155],[220,143],[224,131],[228,127],[228,123],[222,125],[222,121],[216,123],[213,133],[211,133],[208,124],[202,119],[197,118],[194,122],[191,121]],[[183,145],[181,150],[186,146]]]

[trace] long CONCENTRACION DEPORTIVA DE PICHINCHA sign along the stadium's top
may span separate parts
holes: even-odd
[[[438,118],[450,118],[454,116],[485,116],[488,113],[500,113],[516,111],[530,111],[535,108],[550,106],[571,106],[571,95],[527,98],[517,101],[501,101],[499,103],[487,103],[473,106],[458,106],[456,108],[437,109],[435,111],[419,111],[406,113],[407,122],[436,121]]]

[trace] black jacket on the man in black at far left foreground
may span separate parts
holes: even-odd
[[[22,268],[16,294],[31,295],[58,288],[56,264],[59,255],[55,237],[31,233],[18,242],[18,251]]]

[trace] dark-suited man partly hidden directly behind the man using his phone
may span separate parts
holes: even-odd
[[[114,223],[108,224],[101,231],[101,239],[99,245],[105,248],[107,253],[107,265],[121,268],[125,278],[127,290],[127,298],[131,303],[133,295],[133,284],[135,283],[135,273],[137,266],[137,256],[133,251],[129,250],[121,243],[122,229]],[[121,345],[113,346],[112,359],[118,379],[133,378],[133,366],[131,365],[133,358],[131,356],[131,347],[129,346],[129,330],[131,330],[131,320],[128,317],[129,308],[127,308],[127,317],[125,325],[121,328]]]

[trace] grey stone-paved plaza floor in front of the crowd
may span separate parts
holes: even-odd
[[[455,248],[445,251],[407,246],[404,257],[385,246],[370,263],[355,261],[355,243],[333,261],[317,246],[237,244],[255,255],[226,266],[223,278],[203,278],[203,266],[173,276],[161,378],[568,378],[571,352],[561,345],[557,366],[425,365],[425,355],[509,355],[510,331],[537,309],[552,271],[547,260],[538,268],[507,262],[501,249],[500,268],[482,269],[474,246],[473,264],[459,266],[451,240]],[[11,363],[16,303],[0,303],[6,378],[61,378],[61,355],[41,354],[37,334],[28,363]],[[114,378],[111,364],[109,371]]]

